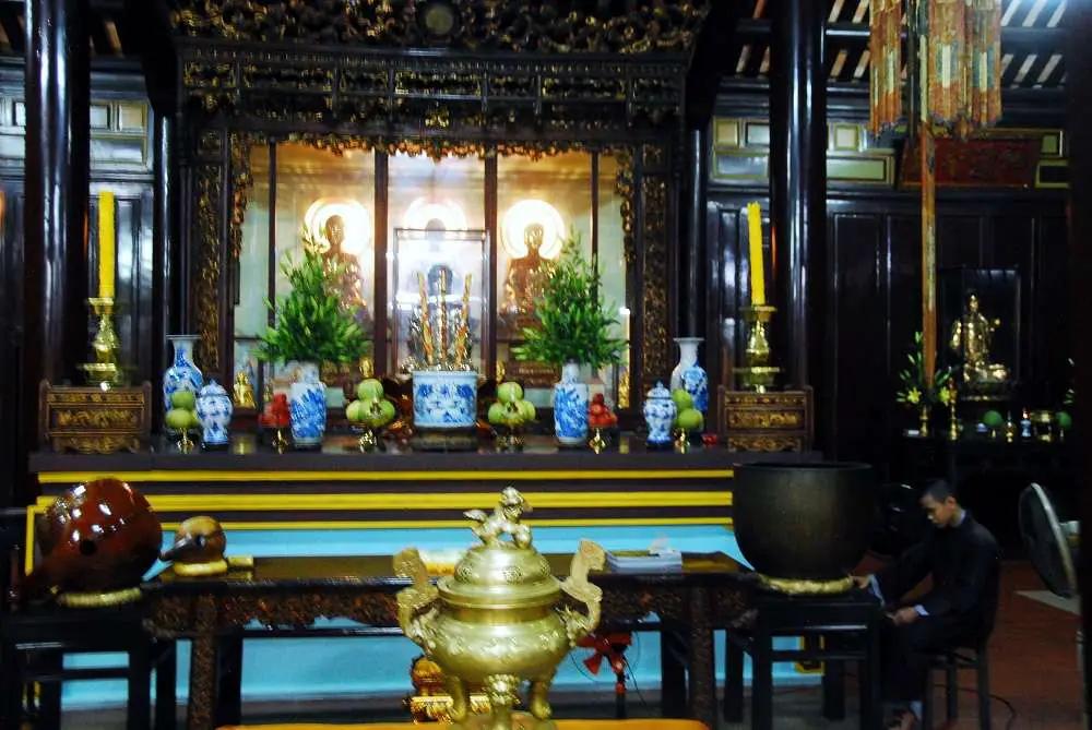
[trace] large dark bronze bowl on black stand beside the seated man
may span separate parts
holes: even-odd
[[[739,550],[771,578],[845,578],[868,548],[874,482],[867,464],[736,466],[732,516]]]

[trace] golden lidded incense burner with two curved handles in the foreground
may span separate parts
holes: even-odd
[[[452,697],[451,719],[467,720],[470,685],[482,686],[488,698],[489,711],[475,715],[467,727],[510,730],[513,721],[527,725],[530,718],[512,713],[527,681],[531,715],[548,720],[557,666],[598,625],[603,591],[587,582],[587,573],[603,566],[603,548],[582,540],[569,577],[559,583],[532,547],[531,528],[520,522],[530,510],[509,487],[492,514],[465,513],[478,523],[473,529],[482,544],[467,550],[454,575],[435,586],[416,548],[395,558],[397,574],[413,578],[397,596],[399,624],[442,670]],[[586,613],[573,610],[571,602],[582,603]]]

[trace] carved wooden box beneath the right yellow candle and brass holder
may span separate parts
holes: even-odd
[[[721,386],[717,405],[720,438],[728,451],[811,450],[811,388],[756,393]]]

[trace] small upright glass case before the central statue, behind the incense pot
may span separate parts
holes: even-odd
[[[395,228],[391,254],[395,376],[432,368],[485,372],[488,234]]]

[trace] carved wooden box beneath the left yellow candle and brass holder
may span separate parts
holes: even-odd
[[[135,452],[152,431],[152,385],[139,387],[50,385],[38,387],[38,428],[44,446],[81,454]]]

